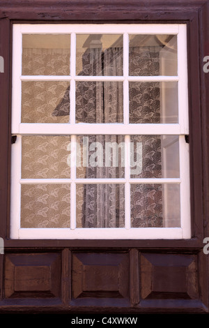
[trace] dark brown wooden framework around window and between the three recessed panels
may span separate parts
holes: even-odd
[[[10,253],[52,253],[61,254],[62,280],[61,280],[61,304],[56,308],[52,303],[47,303],[51,313],[60,311],[88,311],[88,307],[82,308],[82,301],[76,303],[70,299],[70,260],[71,254],[75,260],[81,252],[109,252],[129,253],[130,259],[130,304],[125,308],[126,313],[207,313],[208,312],[208,259],[203,254],[203,239],[209,236],[209,73],[203,71],[203,58],[209,54],[209,1],[208,0],[176,0],[159,1],[150,0],[148,3],[139,0],[102,0],[98,3],[91,1],[40,1],[33,3],[14,0],[10,3],[0,0],[0,55],[4,59],[4,73],[0,73],[1,110],[0,110],[0,232],[4,241],[4,251],[10,260]],[[136,24],[187,24],[187,63],[189,82],[189,161],[190,161],[190,195],[191,195],[191,223],[192,237],[189,239],[118,239],[118,240],[78,240],[78,239],[10,239],[10,165],[11,165],[11,90],[12,90],[12,43],[14,23],[136,23]],[[139,251],[144,255],[139,257]],[[76,253],[77,252],[77,253]],[[148,256],[146,256],[146,254]],[[151,254],[150,254],[151,253]],[[139,304],[139,260],[146,264],[147,258],[153,263],[155,253],[161,261],[161,255],[180,254],[180,262],[191,256],[196,258],[196,268],[199,271],[198,284],[200,290],[199,299],[161,299],[156,305],[156,299],[143,299]],[[181,256],[183,255],[183,256]],[[83,255],[81,255],[82,257]],[[25,258],[25,257],[24,257]],[[73,258],[73,256],[72,256]],[[173,259],[173,258],[172,258]],[[35,261],[35,260],[34,260]],[[156,260],[157,261],[157,260]],[[142,263],[141,262],[141,263]],[[16,259],[16,264],[18,265]],[[7,267],[13,267],[13,263],[6,263]],[[156,264],[157,265],[157,264]],[[167,270],[169,262],[164,265]],[[143,263],[142,263],[143,267]],[[138,269],[137,269],[138,268]],[[191,269],[191,268],[190,268]],[[77,267],[77,271],[79,267]],[[0,311],[31,311],[31,306],[22,299],[13,298],[4,301],[3,277],[4,260],[0,255]],[[67,278],[66,278],[67,277]],[[143,280],[143,277],[141,278]],[[143,281],[142,281],[143,282]],[[145,291],[146,292],[146,291]],[[45,300],[44,300],[45,301]],[[80,300],[79,300],[80,301]],[[74,302],[74,303],[73,303]],[[44,311],[44,302],[33,303],[34,311]],[[81,306],[77,306],[81,304]],[[136,305],[137,304],[137,305]],[[114,306],[114,301],[112,301]],[[45,305],[44,305],[45,306]],[[11,307],[13,308],[11,310]],[[45,308],[46,309],[46,308]],[[109,306],[109,311],[112,307]],[[118,313],[124,313],[124,308],[117,308]],[[98,311],[98,308],[97,308]],[[105,311],[105,308],[99,308]],[[18,313],[18,312],[17,312]]]

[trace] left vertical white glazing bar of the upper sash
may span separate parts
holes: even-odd
[[[75,124],[75,66],[76,66],[76,35],[70,38],[70,124]]]

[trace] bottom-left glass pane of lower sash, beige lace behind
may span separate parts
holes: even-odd
[[[21,228],[70,228],[70,185],[22,185]]]

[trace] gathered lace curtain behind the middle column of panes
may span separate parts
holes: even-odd
[[[88,49],[83,55],[80,75],[123,75],[123,48]],[[122,123],[123,84],[120,82],[78,82],[76,92],[76,120],[83,123]],[[92,131],[93,133],[93,131]],[[91,135],[93,142],[101,145],[103,165],[86,167],[85,177],[124,177],[124,167],[105,167],[105,144],[123,142],[123,136]],[[89,153],[91,156],[91,152]],[[83,195],[77,202],[77,225],[83,228],[121,228],[125,224],[124,185],[86,184],[79,186]]]

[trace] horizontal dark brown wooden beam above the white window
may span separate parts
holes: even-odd
[[[12,3],[1,1],[0,17],[12,20],[38,20],[77,22],[120,22],[134,21],[171,21],[192,19],[204,0],[184,1],[31,1],[15,0]],[[63,10],[65,8],[65,10]]]

